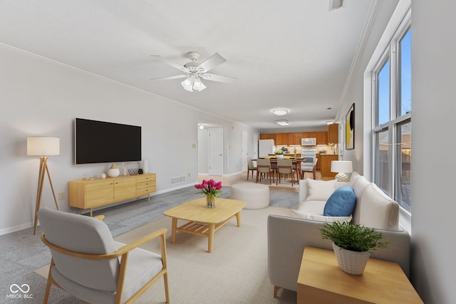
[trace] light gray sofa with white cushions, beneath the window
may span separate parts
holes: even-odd
[[[356,172],[353,172],[350,182],[337,183],[327,184],[328,187],[333,187],[331,191],[343,184],[351,184],[356,194],[352,221],[375,228],[388,242],[387,248],[373,251],[371,257],[398,263],[409,277],[410,235],[398,224],[398,203]],[[326,200],[313,195],[315,193],[312,193],[307,180],[300,181],[299,192],[298,212],[291,211],[292,216],[268,217],[268,273],[269,281],[274,285],[274,297],[280,288],[296,291],[305,246],[333,250],[331,241],[322,239],[319,231],[325,222],[333,220],[323,216]],[[322,206],[313,198],[321,199]]]

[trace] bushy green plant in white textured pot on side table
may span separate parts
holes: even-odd
[[[320,232],[323,239],[333,241],[339,268],[354,275],[364,272],[372,251],[388,246],[381,241],[383,234],[351,221],[326,223]]]

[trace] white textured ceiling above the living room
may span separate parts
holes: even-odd
[[[254,127],[313,127],[336,117],[373,1],[3,0],[0,43]],[[211,73],[237,80],[150,80],[180,74],[152,54],[184,65],[189,51],[219,53]]]

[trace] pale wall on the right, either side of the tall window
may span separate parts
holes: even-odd
[[[390,14],[396,1],[381,1],[379,14]],[[456,303],[456,260],[451,248],[455,239],[454,93],[456,3],[445,0],[412,1],[412,258],[411,281],[424,303]],[[355,150],[345,152],[353,169],[369,172],[369,130],[363,126],[363,72],[382,26],[375,23],[362,59],[356,68],[341,112],[356,103]],[[367,136],[364,136],[366,135]],[[439,147],[443,147],[439,149]],[[405,301],[406,303],[406,301]]]

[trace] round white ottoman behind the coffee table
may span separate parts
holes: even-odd
[[[266,208],[269,206],[269,187],[265,184],[234,184],[231,187],[231,198],[247,201],[244,209]]]

